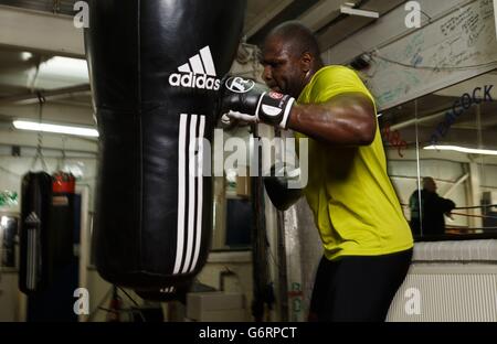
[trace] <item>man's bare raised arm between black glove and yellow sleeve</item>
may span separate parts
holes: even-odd
[[[295,105],[288,127],[328,144],[369,146],[377,130],[374,106],[362,93],[347,93],[324,104]]]

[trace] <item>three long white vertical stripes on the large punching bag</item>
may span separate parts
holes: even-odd
[[[190,125],[188,125],[189,119]],[[205,116],[181,114],[178,144],[178,233],[175,275],[193,271],[199,259],[202,238],[202,139],[204,131]],[[188,206],[186,204],[187,186]]]

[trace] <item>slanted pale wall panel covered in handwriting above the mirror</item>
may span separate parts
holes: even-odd
[[[491,0],[454,10],[379,49],[364,75],[380,110],[495,68]]]

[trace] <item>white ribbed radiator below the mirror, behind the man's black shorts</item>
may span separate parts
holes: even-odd
[[[496,322],[495,262],[414,262],[389,322]]]

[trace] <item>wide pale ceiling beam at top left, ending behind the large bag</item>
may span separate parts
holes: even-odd
[[[71,17],[6,6],[0,6],[1,45],[21,51],[85,57],[83,30],[74,26]]]

